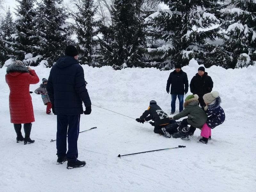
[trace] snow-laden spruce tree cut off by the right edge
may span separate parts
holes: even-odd
[[[256,1],[230,0],[227,8],[221,9],[226,31],[222,38],[231,59],[231,68],[256,64]]]

